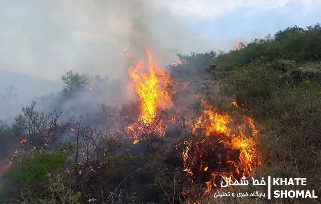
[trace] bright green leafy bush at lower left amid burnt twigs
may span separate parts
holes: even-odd
[[[63,172],[67,164],[64,152],[38,149],[30,150],[30,154],[18,154],[16,160],[10,166],[7,176],[26,188],[46,184],[46,174]]]

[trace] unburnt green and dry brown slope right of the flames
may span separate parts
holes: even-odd
[[[299,175],[311,181],[303,188],[315,189],[316,193],[320,193],[319,181],[315,180],[321,165],[320,33],[319,24],[307,29],[288,28],[274,38],[255,40],[241,50],[219,55],[216,60],[220,67],[216,79],[222,82],[221,98],[228,98],[229,102],[236,99],[260,130],[263,162],[253,177]],[[251,188],[244,191],[260,190]],[[286,190],[296,189],[289,186]],[[230,202],[235,200],[210,198],[204,203]],[[240,203],[256,201],[244,199]]]

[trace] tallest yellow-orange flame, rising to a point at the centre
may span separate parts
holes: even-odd
[[[140,109],[138,123],[128,127],[134,133],[134,144],[142,139],[138,132],[143,129],[149,129],[145,132],[147,134],[165,134],[162,121],[156,120],[157,109],[162,103],[171,101],[171,96],[175,93],[170,76],[155,62],[148,47],[145,47],[145,51],[148,56],[147,71],[144,72],[146,62],[143,60],[131,66],[128,71],[130,86],[139,98]]]

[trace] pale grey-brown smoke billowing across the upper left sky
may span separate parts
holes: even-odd
[[[124,76],[127,44],[134,51],[149,45],[169,64],[184,34],[168,13],[155,12],[139,0],[1,4],[1,67],[54,81],[70,69],[114,79]]]

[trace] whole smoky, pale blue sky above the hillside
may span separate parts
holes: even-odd
[[[68,70],[124,77],[123,48],[162,66],[321,23],[320,0],[0,0],[0,69],[61,81]]]

